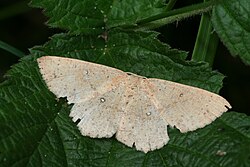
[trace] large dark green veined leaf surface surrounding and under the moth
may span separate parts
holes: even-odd
[[[169,130],[169,144],[144,154],[114,138],[80,135],[69,117],[71,106],[55,99],[37,67],[36,57],[64,55],[133,73],[169,79],[217,92],[222,75],[206,64],[185,62],[155,33],[111,32],[110,40],[56,35],[7,74],[0,87],[1,166],[244,166],[249,164],[250,119],[226,113],[192,133]],[[222,154],[224,153],[224,154]],[[239,159],[240,157],[240,159]]]

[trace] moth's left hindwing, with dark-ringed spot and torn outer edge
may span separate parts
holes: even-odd
[[[123,83],[121,85],[80,103],[75,103],[70,117],[84,136],[112,137],[118,129],[122,114],[124,99]]]

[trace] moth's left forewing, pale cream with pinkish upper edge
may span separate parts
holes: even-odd
[[[48,88],[69,103],[103,94],[119,84],[126,73],[115,68],[77,59],[44,56],[37,59]]]

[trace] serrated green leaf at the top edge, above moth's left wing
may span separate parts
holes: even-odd
[[[32,0],[45,9],[49,25],[76,34],[100,34],[104,29],[136,22],[165,10],[162,0]]]

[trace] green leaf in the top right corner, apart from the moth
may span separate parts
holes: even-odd
[[[225,0],[213,9],[212,23],[233,56],[250,64],[250,1]]]

